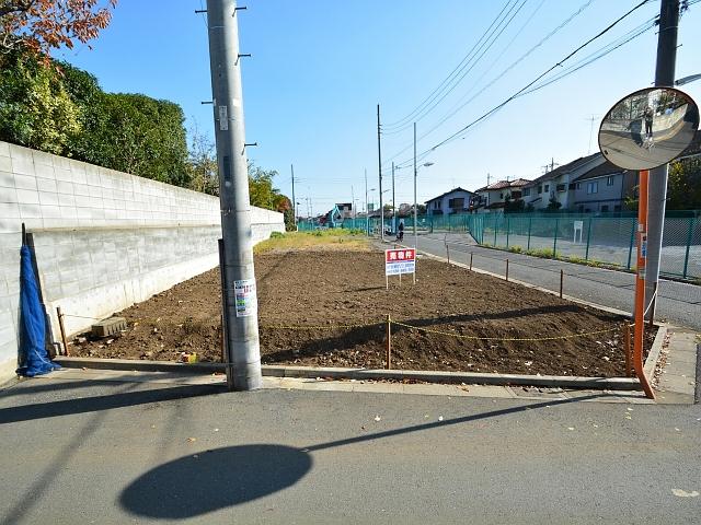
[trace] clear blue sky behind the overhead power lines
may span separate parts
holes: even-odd
[[[92,43],[92,50],[84,46],[60,58],[95,74],[106,91],[143,93],[179,103],[187,117],[186,126],[197,126],[211,136],[211,106],[200,104],[211,97],[206,18],[194,13],[204,1],[119,0],[111,26]],[[244,59],[242,68],[246,142],[260,144],[248,150],[249,158],[264,168],[278,171],[276,185],[290,196],[289,166],[295,164],[297,200],[311,198],[314,212],[330,209],[333,202],[350,201],[352,188],[358,209],[363,209],[366,168],[368,187],[378,187],[377,104],[386,126],[382,159],[383,186],[388,188],[391,161],[411,159],[411,122],[416,117],[412,112],[469,56],[505,5],[504,12],[514,15],[510,24],[498,38],[494,34],[492,47],[478,46],[479,52],[471,56],[485,50],[480,60],[470,61],[472,68],[464,78],[418,119],[420,153],[503,102],[637,3],[239,2],[248,7],[239,19],[241,52],[253,55]],[[517,61],[581,9],[571,22]],[[659,1],[650,1],[551,74],[614,43],[658,11]],[[418,200],[456,186],[475,189],[486,184],[487,173],[492,180],[535,178],[551,159],[566,163],[594,152],[596,130],[608,108],[654,80],[656,44],[656,30],[648,30],[563,80],[516,98],[471,128],[464,138],[430,152],[422,160],[434,165],[418,173]],[[701,72],[701,3],[692,4],[683,15],[679,44],[677,78]],[[701,102],[701,81],[683,90]],[[424,137],[449,114],[453,115]],[[390,133],[394,130],[398,132]],[[398,205],[413,201],[412,184],[411,168],[397,171]],[[378,201],[377,194],[370,192],[370,201]],[[386,194],[386,200],[390,196]],[[306,205],[300,210],[303,212]]]

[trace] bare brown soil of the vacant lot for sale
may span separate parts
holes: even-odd
[[[388,291],[381,252],[338,248],[256,256],[264,363],[383,368],[389,314],[450,334],[392,326],[395,369],[624,375],[621,316],[425,257],[416,284],[404,276],[400,288],[393,277]],[[119,312],[128,320],[120,337],[76,339],[71,353],[221,361],[220,301],[217,268]],[[599,334],[542,340],[590,332]],[[532,340],[504,340],[514,338]]]

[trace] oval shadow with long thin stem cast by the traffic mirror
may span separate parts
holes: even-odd
[[[185,520],[235,506],[291,487],[312,468],[312,452],[336,448],[452,424],[508,416],[602,397],[548,400],[461,418],[388,430],[369,435],[295,448],[252,444],[216,448],[160,465],[129,483],[119,497],[129,513],[160,520]]]

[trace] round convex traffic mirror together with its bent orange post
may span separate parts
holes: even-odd
[[[647,185],[650,170],[683,153],[699,127],[699,107],[686,93],[648,88],[621,98],[599,127],[599,150],[611,164],[639,172],[637,265],[633,318],[633,369],[645,395],[655,397],[644,372]],[[655,196],[665,199],[665,195]],[[628,372],[628,371],[627,371]]]

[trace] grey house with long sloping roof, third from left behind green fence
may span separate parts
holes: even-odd
[[[553,202],[559,203],[558,208],[562,210],[572,208],[575,179],[604,164],[605,161],[604,155],[597,152],[582,156],[541,175],[521,188],[526,206],[530,205],[536,210],[543,210]]]

